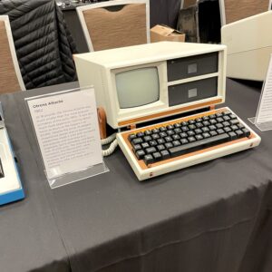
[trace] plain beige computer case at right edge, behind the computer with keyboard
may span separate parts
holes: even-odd
[[[228,47],[227,76],[264,81],[272,53],[272,11],[226,24],[221,42]]]

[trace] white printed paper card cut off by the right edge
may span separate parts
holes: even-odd
[[[257,108],[256,123],[272,121],[272,61],[268,65],[267,79],[264,83],[261,99]]]

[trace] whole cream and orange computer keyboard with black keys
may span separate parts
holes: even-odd
[[[229,108],[117,134],[139,180],[257,146],[260,137]]]

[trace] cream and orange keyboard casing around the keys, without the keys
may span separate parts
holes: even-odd
[[[215,112],[219,111],[230,111],[228,108],[223,108],[215,111],[205,112],[205,114],[213,114]],[[189,118],[197,118],[201,114],[195,114],[187,117]],[[185,118],[177,119],[171,122],[176,121],[183,121]],[[261,141],[260,137],[252,131],[247,124],[245,124],[243,121],[239,120],[241,123],[244,124],[244,126],[250,131],[250,137],[249,138],[241,138],[235,141],[228,141],[219,145],[216,145],[214,147],[209,147],[200,151],[194,151],[190,152],[188,154],[171,158],[169,160],[162,160],[159,162],[152,163],[151,165],[145,165],[142,160],[137,160],[136,156],[134,155],[134,152],[131,151],[131,146],[128,144],[127,135],[128,132],[121,132],[117,134],[117,141],[119,143],[119,146],[121,147],[121,151],[124,153],[125,157],[131,164],[131,168],[134,170],[138,180],[147,180],[151,179],[156,176],[160,176],[162,174],[175,171],[175,170],[181,170],[184,168],[187,168],[192,165],[196,165],[208,160],[214,160],[223,156],[227,156],[229,154],[238,152],[238,151],[244,151],[251,148],[256,147],[259,142]],[[156,124],[156,126],[160,126],[165,123]],[[146,130],[148,128],[141,128],[136,129],[133,131],[142,131]],[[132,131],[130,131],[131,133]]]

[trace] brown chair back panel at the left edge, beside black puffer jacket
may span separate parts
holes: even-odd
[[[20,91],[15,73],[12,54],[9,48],[5,22],[0,21],[0,93]]]

